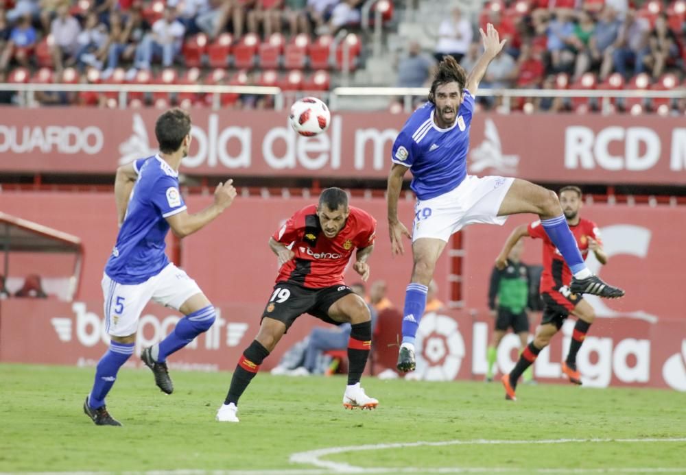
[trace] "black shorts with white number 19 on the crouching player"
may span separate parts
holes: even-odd
[[[353,289],[345,284],[309,289],[291,282],[278,282],[274,285],[262,318],[270,317],[283,322],[286,331],[303,313],[309,313],[327,324],[340,325],[342,322],[329,318],[329,307],[348,293],[353,293]]]

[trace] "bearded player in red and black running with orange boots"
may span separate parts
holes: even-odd
[[[602,241],[598,226],[579,216],[581,208],[581,190],[578,186],[565,186],[560,190],[560,205],[565,212],[565,218],[569,229],[576,239],[579,251],[584,260],[589,251],[595,254],[598,262],[607,263],[607,255],[602,250]],[[536,330],[534,341],[524,349],[517,365],[514,366],[510,374],[503,376],[502,382],[506,390],[506,398],[514,400],[514,389],[517,386],[519,376],[527,369],[545,348],[550,339],[556,334],[568,315],[577,317],[576,325],[569,345],[569,353],[566,361],[562,364],[562,370],[569,380],[574,384],[581,384],[581,374],[576,369],[576,354],[586,337],[589,327],[595,319],[593,307],[583,300],[581,294],[572,293],[569,290],[572,275],[569,267],[565,263],[555,245],[541,226],[541,221],[534,221],[528,225],[522,225],[514,229],[508,237],[503,250],[495,260],[497,267],[505,267],[506,256],[512,246],[524,236],[534,239],[543,239],[543,273],[541,274],[541,297],[545,306],[543,307],[543,318],[541,325]]]

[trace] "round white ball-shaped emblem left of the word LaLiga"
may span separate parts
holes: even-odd
[[[451,381],[458,376],[465,354],[458,322],[445,315],[427,313],[419,322],[416,348],[418,379]]]

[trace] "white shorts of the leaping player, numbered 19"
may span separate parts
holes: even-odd
[[[451,234],[472,223],[499,224],[508,217],[498,216],[514,178],[466,175],[452,191],[431,199],[417,199],[414,206],[412,242],[434,238],[448,242]]]

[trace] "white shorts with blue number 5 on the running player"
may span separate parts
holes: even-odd
[[[178,310],[201,292],[196,281],[172,263],[141,284],[119,284],[103,274],[105,328],[113,337],[128,337],[137,332],[141,312],[150,300]]]

